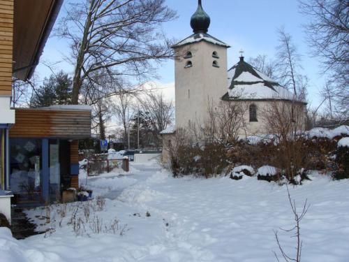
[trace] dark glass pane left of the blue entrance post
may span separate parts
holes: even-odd
[[[10,189],[17,203],[43,202],[41,151],[40,139],[10,139]]]

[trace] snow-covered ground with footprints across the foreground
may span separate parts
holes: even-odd
[[[302,261],[349,261],[349,180],[330,181],[318,173],[311,178],[290,187],[299,209],[306,198],[311,204],[301,224]],[[96,224],[97,217],[110,228],[117,217],[116,233],[94,233],[90,221],[76,236],[67,223],[77,204],[66,207],[64,219],[59,219],[57,211],[64,209],[59,205],[48,213],[50,224],[40,226],[54,228],[46,237],[15,240],[0,228],[0,261],[271,262],[276,261],[273,251],[279,254],[273,230],[294,225],[285,186],[255,177],[174,179],[156,164],[133,164],[129,175],[94,177],[87,184],[94,194],[113,198],[103,210],[91,211],[90,220]],[[83,209],[77,212],[82,220]],[[40,216],[47,210],[29,214],[43,224]],[[281,245],[293,256],[291,236],[279,230]]]

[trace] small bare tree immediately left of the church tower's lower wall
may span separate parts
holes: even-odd
[[[146,99],[140,100],[140,103],[143,111],[147,115],[149,123],[151,124],[156,145],[160,146],[160,132],[165,130],[168,124],[172,122],[172,117],[174,114],[172,101],[166,101],[163,93],[149,93],[147,94]]]

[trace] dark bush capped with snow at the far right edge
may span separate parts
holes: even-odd
[[[349,178],[349,137],[339,140],[336,163],[337,170],[334,172],[334,179],[341,180]]]

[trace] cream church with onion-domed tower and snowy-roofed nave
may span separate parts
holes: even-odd
[[[239,137],[246,137],[265,133],[261,116],[271,102],[306,104],[295,101],[292,92],[253,68],[243,56],[228,70],[230,45],[208,34],[210,22],[199,0],[198,9],[191,17],[193,34],[172,46],[175,53],[175,126],[161,132],[163,152],[166,141],[177,129],[207,120],[209,105],[239,103],[246,106],[244,128],[239,130]]]

